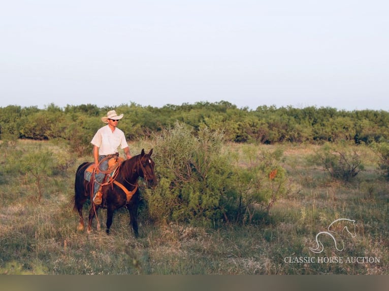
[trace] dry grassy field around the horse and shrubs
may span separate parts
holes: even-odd
[[[142,147],[151,148],[145,141],[131,144],[133,154]],[[91,156],[70,157],[55,142],[2,143],[0,274],[388,274],[389,183],[369,148],[342,145],[355,148],[365,166],[343,183],[309,162],[320,145],[225,145],[237,152],[242,147],[284,151],[288,193],[266,222],[218,229],[152,224],[141,210],[135,239],[124,208],[115,212],[111,235],[96,231],[96,223],[92,234],[77,232],[74,175]],[[37,151],[60,166],[17,166]],[[103,226],[105,215],[100,212]],[[342,218],[355,220],[356,236],[336,237],[344,242],[341,251],[327,237],[324,250],[312,252],[316,234]]]

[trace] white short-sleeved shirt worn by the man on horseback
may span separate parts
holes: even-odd
[[[117,148],[127,148],[128,144],[125,140],[124,132],[117,127],[112,132],[111,128],[106,125],[100,128],[93,136],[91,143],[99,148],[99,155],[106,156],[118,152]]]

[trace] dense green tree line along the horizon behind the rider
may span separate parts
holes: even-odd
[[[202,128],[222,131],[225,139],[231,142],[273,144],[351,140],[370,143],[387,140],[389,136],[389,113],[383,110],[344,111],[333,107],[266,105],[249,110],[219,101],[163,107],[136,103],[112,107],[67,105],[64,108],[51,103],[44,109],[9,105],[0,107],[0,138],[64,139],[79,143],[82,148],[102,126],[100,118],[113,109],[124,114],[119,128],[129,140],[148,138],[176,121],[188,125],[194,132]]]

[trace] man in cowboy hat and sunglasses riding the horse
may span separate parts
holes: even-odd
[[[116,111],[111,110],[107,113],[107,116],[102,117],[102,121],[106,123],[106,126],[100,128],[93,136],[91,143],[93,144],[93,158],[94,166],[98,167],[99,162],[109,155],[118,154],[117,148],[120,146],[126,155],[127,159],[131,158],[129,148],[123,131],[117,128],[117,124],[120,119],[123,118],[123,114],[117,115]],[[101,170],[108,169],[108,160],[106,159],[100,165]],[[94,197],[93,202],[95,204],[101,204],[102,192],[101,184],[105,178],[105,173],[99,172],[95,175],[94,183]]]

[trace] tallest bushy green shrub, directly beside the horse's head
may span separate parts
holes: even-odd
[[[195,224],[217,220],[226,180],[226,167],[219,159],[223,135],[202,129],[195,136],[177,122],[155,141],[159,186],[148,199],[151,216]]]

